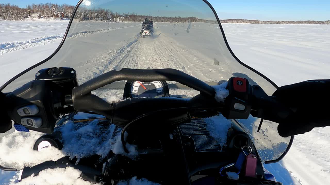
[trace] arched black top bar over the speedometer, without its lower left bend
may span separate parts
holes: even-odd
[[[120,80],[128,81],[176,81],[201,94],[214,97],[214,89],[205,82],[198,80],[177,69],[129,69],[120,68],[93,78],[73,90],[75,97],[83,96],[100,87]]]

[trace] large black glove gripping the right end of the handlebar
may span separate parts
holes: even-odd
[[[273,96],[293,114],[279,122],[282,137],[303,134],[315,127],[330,126],[330,80],[308,80],[282,86]]]

